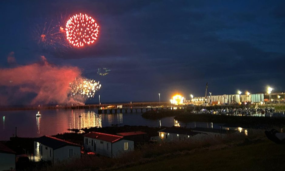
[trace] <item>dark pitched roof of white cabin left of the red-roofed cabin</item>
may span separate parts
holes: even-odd
[[[42,136],[42,137],[36,138],[35,141],[39,142],[45,146],[48,146],[52,149],[58,149],[58,148],[61,148],[64,146],[79,146],[79,147],[81,147],[81,145],[79,145],[79,144],[71,143],[69,141],[58,139],[58,138],[55,138],[52,136]]]

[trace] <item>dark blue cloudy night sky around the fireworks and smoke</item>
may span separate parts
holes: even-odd
[[[102,102],[162,101],[237,89],[284,90],[284,1],[1,1],[0,67],[10,52],[18,65],[39,61],[72,65],[99,80]],[[37,25],[60,13],[86,13],[100,25],[85,49],[44,48]],[[106,76],[97,68],[109,68]],[[1,80],[0,80],[1,81]],[[98,101],[97,98],[93,101]],[[89,101],[92,102],[92,101]]]

